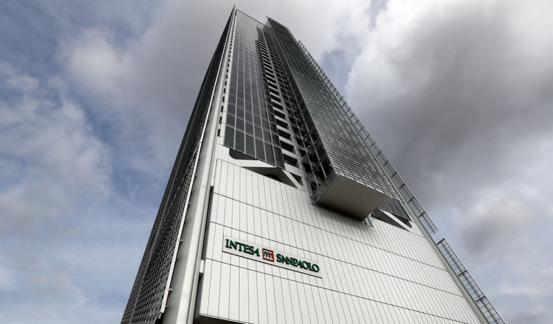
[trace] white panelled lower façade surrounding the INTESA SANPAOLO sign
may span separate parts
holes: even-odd
[[[478,323],[424,237],[373,223],[218,160],[199,313],[246,323]],[[317,260],[323,278],[226,254],[223,235]]]

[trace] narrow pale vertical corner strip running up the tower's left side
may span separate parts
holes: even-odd
[[[216,151],[218,147],[218,118],[222,105],[227,57],[229,56],[230,35],[234,30],[236,7],[232,9],[229,32],[225,36],[224,50],[221,61],[218,62],[215,84],[207,109],[207,118],[203,126],[202,137],[198,146],[194,166],[194,176],[191,180],[187,206],[183,211],[179,239],[176,242],[174,258],[171,260],[171,271],[162,300],[162,323],[193,323],[195,302],[198,295],[200,280],[200,264],[207,226],[205,215],[209,207],[210,175],[214,173]]]

